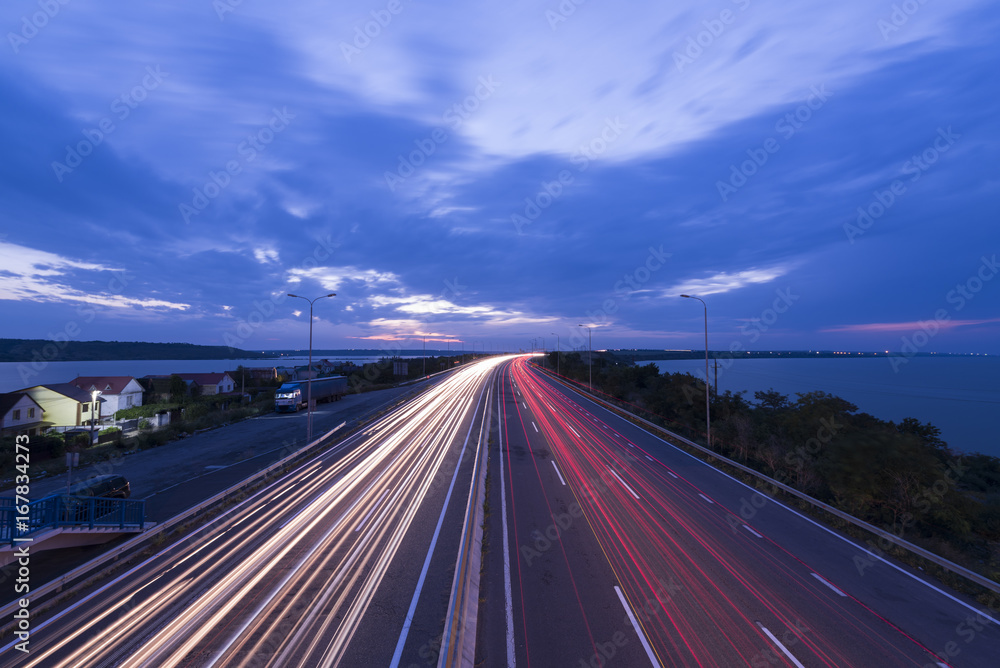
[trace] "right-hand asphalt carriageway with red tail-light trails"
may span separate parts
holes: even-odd
[[[524,358],[502,384],[486,665],[997,665],[970,602],[778,503],[744,519],[752,490]]]

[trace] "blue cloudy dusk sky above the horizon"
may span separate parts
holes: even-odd
[[[5,3],[0,336],[1000,353],[996,3],[349,4]]]

